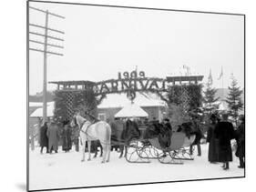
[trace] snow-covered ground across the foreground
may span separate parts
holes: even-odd
[[[208,162],[208,145],[202,146],[202,156],[184,161],[183,165],[160,164],[151,160],[148,164],[128,163],[111,152],[110,162],[101,164],[100,157],[81,162],[81,153],[74,150],[57,154],[39,153],[39,147],[29,152],[29,189],[93,187],[118,184],[149,183],[219,177],[243,177],[244,169],[238,168],[238,158],[233,156],[230,170],[220,164]],[[61,148],[59,148],[61,149]]]

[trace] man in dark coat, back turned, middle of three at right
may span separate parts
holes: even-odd
[[[214,134],[219,139],[218,155],[219,162],[223,163],[223,169],[227,170],[230,168],[229,162],[232,161],[232,149],[230,140],[234,138],[234,127],[228,121],[228,115],[223,114],[222,120],[216,125]]]

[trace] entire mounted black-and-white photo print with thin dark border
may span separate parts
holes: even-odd
[[[245,15],[27,1],[27,190],[245,177]]]

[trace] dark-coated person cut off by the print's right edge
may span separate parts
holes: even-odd
[[[244,157],[245,157],[245,120],[244,116],[241,116],[241,125],[238,127],[236,131],[236,141],[237,141],[237,151],[236,157],[239,157],[240,160],[240,168],[244,168]]]

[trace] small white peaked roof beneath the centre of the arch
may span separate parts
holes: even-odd
[[[148,117],[148,113],[135,103],[124,106],[115,117]]]

